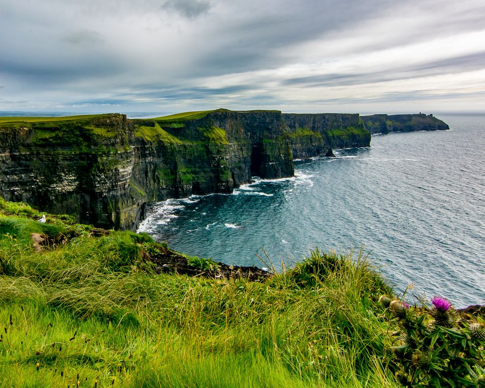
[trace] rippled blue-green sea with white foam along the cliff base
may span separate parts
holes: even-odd
[[[396,291],[485,301],[485,116],[440,115],[450,131],[373,136],[372,147],[295,161],[295,178],[172,199],[140,230],[228,264],[293,265],[314,247],[365,252]]]

